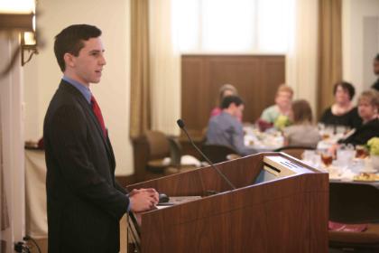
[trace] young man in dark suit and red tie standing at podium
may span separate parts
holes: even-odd
[[[106,65],[100,35],[95,26],[75,24],[55,37],[63,77],[43,126],[50,253],[116,253],[120,218],[158,202],[153,189],[127,194],[116,183],[106,123],[89,89]]]

